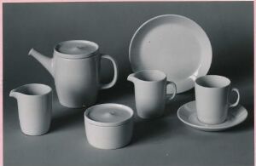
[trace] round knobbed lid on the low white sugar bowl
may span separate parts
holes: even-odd
[[[91,106],[84,112],[84,119],[97,126],[119,126],[127,123],[133,117],[129,106],[120,104],[101,104]]]

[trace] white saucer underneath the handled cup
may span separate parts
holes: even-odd
[[[230,107],[228,117],[224,123],[219,124],[206,124],[201,123],[196,114],[195,100],[190,101],[177,110],[177,117],[185,124],[195,129],[204,131],[221,131],[230,129],[237,124],[242,123],[247,118],[247,109],[241,105]]]

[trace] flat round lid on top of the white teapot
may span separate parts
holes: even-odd
[[[69,40],[55,46],[55,51],[67,59],[88,58],[96,55],[98,49],[98,44],[86,40]]]

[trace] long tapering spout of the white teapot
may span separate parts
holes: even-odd
[[[32,55],[32,57],[34,57],[36,60],[38,60],[38,62],[44,66],[44,68],[51,74],[51,76],[54,77],[53,63],[52,63],[51,58],[45,56],[44,54],[39,53],[35,49],[30,49],[28,54]]]

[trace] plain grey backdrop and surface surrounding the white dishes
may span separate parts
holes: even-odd
[[[195,20],[212,43],[210,74],[230,77],[241,91],[249,116],[224,132],[203,132],[177,119],[177,109],[194,100],[194,89],[178,94],[165,116],[136,117],[129,146],[102,151],[84,134],[83,109],[68,109],[54,99],[49,133],[20,132],[16,101],[9,91],[25,83],[54,87],[49,73],[27,53],[32,47],[51,56],[56,43],[86,39],[119,63],[119,82],[103,90],[97,103],[115,102],[135,109],[128,47],[144,21],[159,14],[182,14]],[[103,62],[102,81],[112,77]],[[111,94],[111,95],[110,95]],[[4,165],[253,165],[253,2],[187,3],[4,3],[3,4]]]

